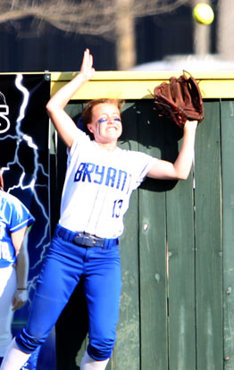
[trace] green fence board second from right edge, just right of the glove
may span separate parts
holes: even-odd
[[[218,102],[206,102],[196,137],[197,370],[223,368],[219,109]]]

